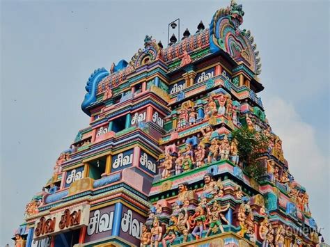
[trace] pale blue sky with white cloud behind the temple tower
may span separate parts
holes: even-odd
[[[127,61],[145,35],[166,44],[180,17],[191,33],[228,1],[1,2],[1,233],[9,243],[24,208],[89,118],[81,109],[98,67]],[[295,179],[329,225],[329,2],[241,1],[242,28],[260,51],[260,95]],[[327,232],[327,233],[326,233]]]

